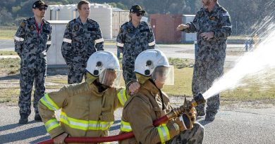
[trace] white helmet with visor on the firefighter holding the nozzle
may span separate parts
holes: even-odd
[[[157,49],[142,51],[138,55],[135,59],[135,72],[139,81],[142,80],[139,77],[141,74],[147,79],[152,77],[155,82],[173,85],[173,66],[169,65],[166,55]]]

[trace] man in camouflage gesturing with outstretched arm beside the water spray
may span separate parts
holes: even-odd
[[[218,0],[202,0],[193,22],[178,25],[177,30],[197,32],[198,53],[195,60],[192,91],[204,93],[224,72],[226,41],[231,35],[231,18]],[[219,94],[207,100],[206,121],[213,121],[219,110]],[[204,104],[196,107],[197,116],[204,116]]]

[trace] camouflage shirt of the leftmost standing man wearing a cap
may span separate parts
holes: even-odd
[[[51,25],[44,19],[42,25],[37,25],[34,17],[23,20],[14,37],[14,43],[22,66],[35,67],[38,63],[46,65],[46,52],[51,46]]]

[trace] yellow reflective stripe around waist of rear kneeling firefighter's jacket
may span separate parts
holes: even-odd
[[[74,119],[68,117],[65,112],[61,112],[60,122],[67,124],[73,129],[81,129],[83,131],[89,130],[101,130],[105,131],[111,127],[114,122],[102,122],[102,121],[85,121],[82,119]]]

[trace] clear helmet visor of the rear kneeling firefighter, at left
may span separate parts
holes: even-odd
[[[99,82],[106,86],[119,87],[121,84],[121,77],[121,70],[105,69],[99,74]]]

